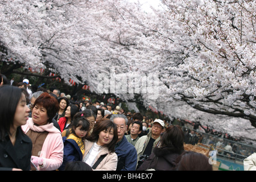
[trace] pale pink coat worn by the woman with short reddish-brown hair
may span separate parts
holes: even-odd
[[[38,132],[49,132],[46,140],[44,140],[42,151],[40,153],[40,158],[44,158],[45,165],[40,168],[38,167],[38,169],[40,171],[52,171],[59,168],[63,162],[64,147],[60,131],[53,126],[53,123],[43,126],[36,126],[34,125],[32,118],[29,118],[26,125],[22,126],[24,133],[27,133],[27,131],[30,129]]]

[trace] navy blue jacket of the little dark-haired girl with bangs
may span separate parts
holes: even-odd
[[[64,156],[63,156],[63,163],[59,167],[60,171],[64,170],[67,162],[82,160],[82,152],[75,140],[67,139],[67,137],[63,137],[63,143],[64,143]]]

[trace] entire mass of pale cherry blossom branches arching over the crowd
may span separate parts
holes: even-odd
[[[256,127],[253,1],[162,0],[150,12],[125,0],[0,5],[1,61],[47,68],[99,94],[105,81],[103,92],[139,98],[171,118],[201,117],[220,130],[234,120],[243,131],[251,129],[246,121]],[[142,92],[150,74],[158,84]]]

